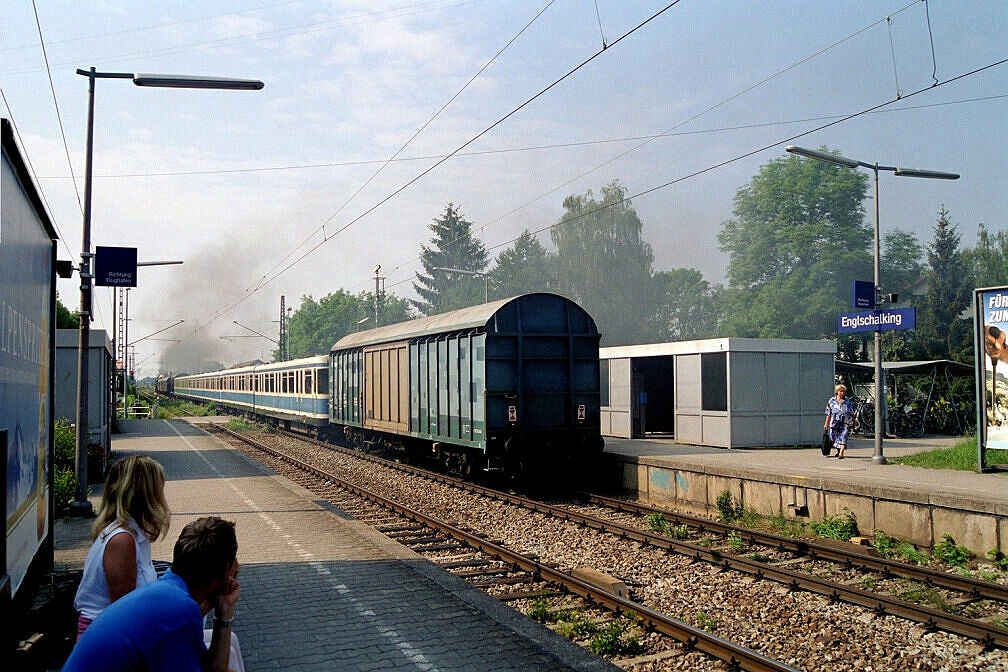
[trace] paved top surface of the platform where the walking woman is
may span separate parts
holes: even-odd
[[[883,453],[890,457],[948,447],[956,437],[885,439]],[[816,448],[718,448],[676,443],[671,438],[622,439],[606,437],[606,452],[645,463],[699,467],[708,473],[761,480],[829,480],[834,487],[852,491],[884,491],[887,495],[917,494],[926,499],[936,493],[987,503],[1008,511],[1008,474],[977,474],[955,469],[931,469],[905,464],[876,464],[871,438],[850,439],[846,457],[823,456]],[[989,507],[988,507],[989,508]]]

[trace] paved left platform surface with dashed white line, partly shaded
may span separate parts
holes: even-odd
[[[171,559],[196,518],[235,521],[235,632],[249,672],[618,669],[190,423],[124,428],[113,451],[167,473],[171,528],[154,560]],[[89,522],[57,523],[59,568],[83,566]]]

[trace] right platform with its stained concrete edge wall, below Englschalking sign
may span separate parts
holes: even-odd
[[[888,457],[947,447],[962,439],[883,441]],[[758,513],[816,521],[854,514],[861,534],[883,530],[932,547],[951,535],[983,557],[1008,552],[1008,474],[931,469],[872,461],[872,438],[854,437],[846,457],[814,448],[718,448],[668,437],[606,437],[605,459],[624,492],[655,506],[716,513],[728,491]]]

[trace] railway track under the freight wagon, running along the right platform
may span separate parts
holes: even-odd
[[[877,557],[854,544],[849,544],[849,549],[842,548],[839,545],[835,546],[816,541],[791,539],[789,537],[720,523],[696,516],[678,514],[600,495],[590,493],[574,494],[594,505],[603,506],[621,513],[628,513],[635,516],[659,514],[678,525],[685,525],[692,528],[700,536],[714,534],[718,538],[716,540],[723,541],[728,539],[730,535],[735,535],[743,542],[756,544],[764,548],[773,549],[777,553],[788,555],[788,557],[776,561],[751,559],[730,550],[712,548],[703,543],[672,539],[664,535],[649,532],[641,529],[640,525],[622,524],[609,518],[579,513],[566,506],[547,504],[538,500],[504,493],[375,455],[362,455],[360,451],[322,443],[313,439],[306,439],[298,434],[293,434],[293,436],[296,436],[300,440],[307,440],[316,445],[321,445],[327,449],[344,451],[358,458],[366,458],[376,463],[446,484],[466,492],[495,498],[546,516],[556,517],[586,529],[614,534],[624,540],[640,543],[645,547],[652,546],[667,552],[682,554],[692,561],[705,561],[718,565],[725,570],[739,571],[756,580],[773,580],[787,586],[790,590],[807,590],[824,595],[833,601],[845,601],[856,604],[870,610],[875,616],[892,615],[908,619],[923,626],[925,632],[941,630],[961,635],[976,640],[985,649],[1008,648],[1008,630],[996,625],[993,623],[993,620],[985,621],[968,618],[926,604],[914,603],[894,594],[858,587],[858,584],[852,584],[850,581],[835,581],[823,578],[810,572],[794,569],[793,566],[803,560],[813,563],[826,561],[836,563],[848,572],[874,572],[883,581],[893,577],[917,581],[926,588],[942,588],[962,593],[950,599],[957,608],[962,608],[970,603],[976,604],[981,600],[990,600],[996,602],[996,604],[988,604],[989,609],[987,611],[1008,615],[1008,586],[999,583],[942,572],[928,567],[915,566],[898,560]],[[856,580],[861,585],[865,583],[863,577]]]

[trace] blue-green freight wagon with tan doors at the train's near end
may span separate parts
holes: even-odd
[[[535,293],[351,333],[330,353],[331,422],[450,471],[526,471],[602,451],[599,330]]]

